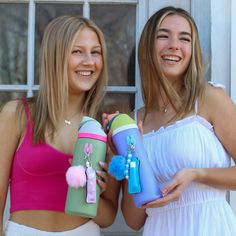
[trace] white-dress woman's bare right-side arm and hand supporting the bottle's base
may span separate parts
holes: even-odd
[[[216,136],[236,161],[236,107],[225,91],[208,85],[200,114],[213,124]],[[236,167],[183,169],[162,189],[165,197],[147,204],[146,207],[160,207],[176,201],[192,181],[236,190]]]

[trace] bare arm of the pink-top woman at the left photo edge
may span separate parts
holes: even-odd
[[[12,156],[19,142],[16,102],[6,104],[0,113],[0,235],[3,234],[3,213],[8,191]]]

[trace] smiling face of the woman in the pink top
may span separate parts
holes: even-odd
[[[75,38],[68,60],[69,94],[90,90],[103,68],[102,47],[97,34],[88,27],[81,29]]]

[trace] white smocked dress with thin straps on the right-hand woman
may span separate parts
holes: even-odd
[[[183,168],[229,167],[230,157],[212,125],[195,113],[144,134],[148,158],[161,186]],[[135,114],[136,116],[136,114]],[[149,208],[144,236],[235,236],[236,218],[226,190],[191,183],[177,202]]]

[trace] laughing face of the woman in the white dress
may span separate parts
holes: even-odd
[[[192,55],[191,28],[180,15],[168,15],[156,32],[155,53],[165,76],[173,82],[184,75]]]

